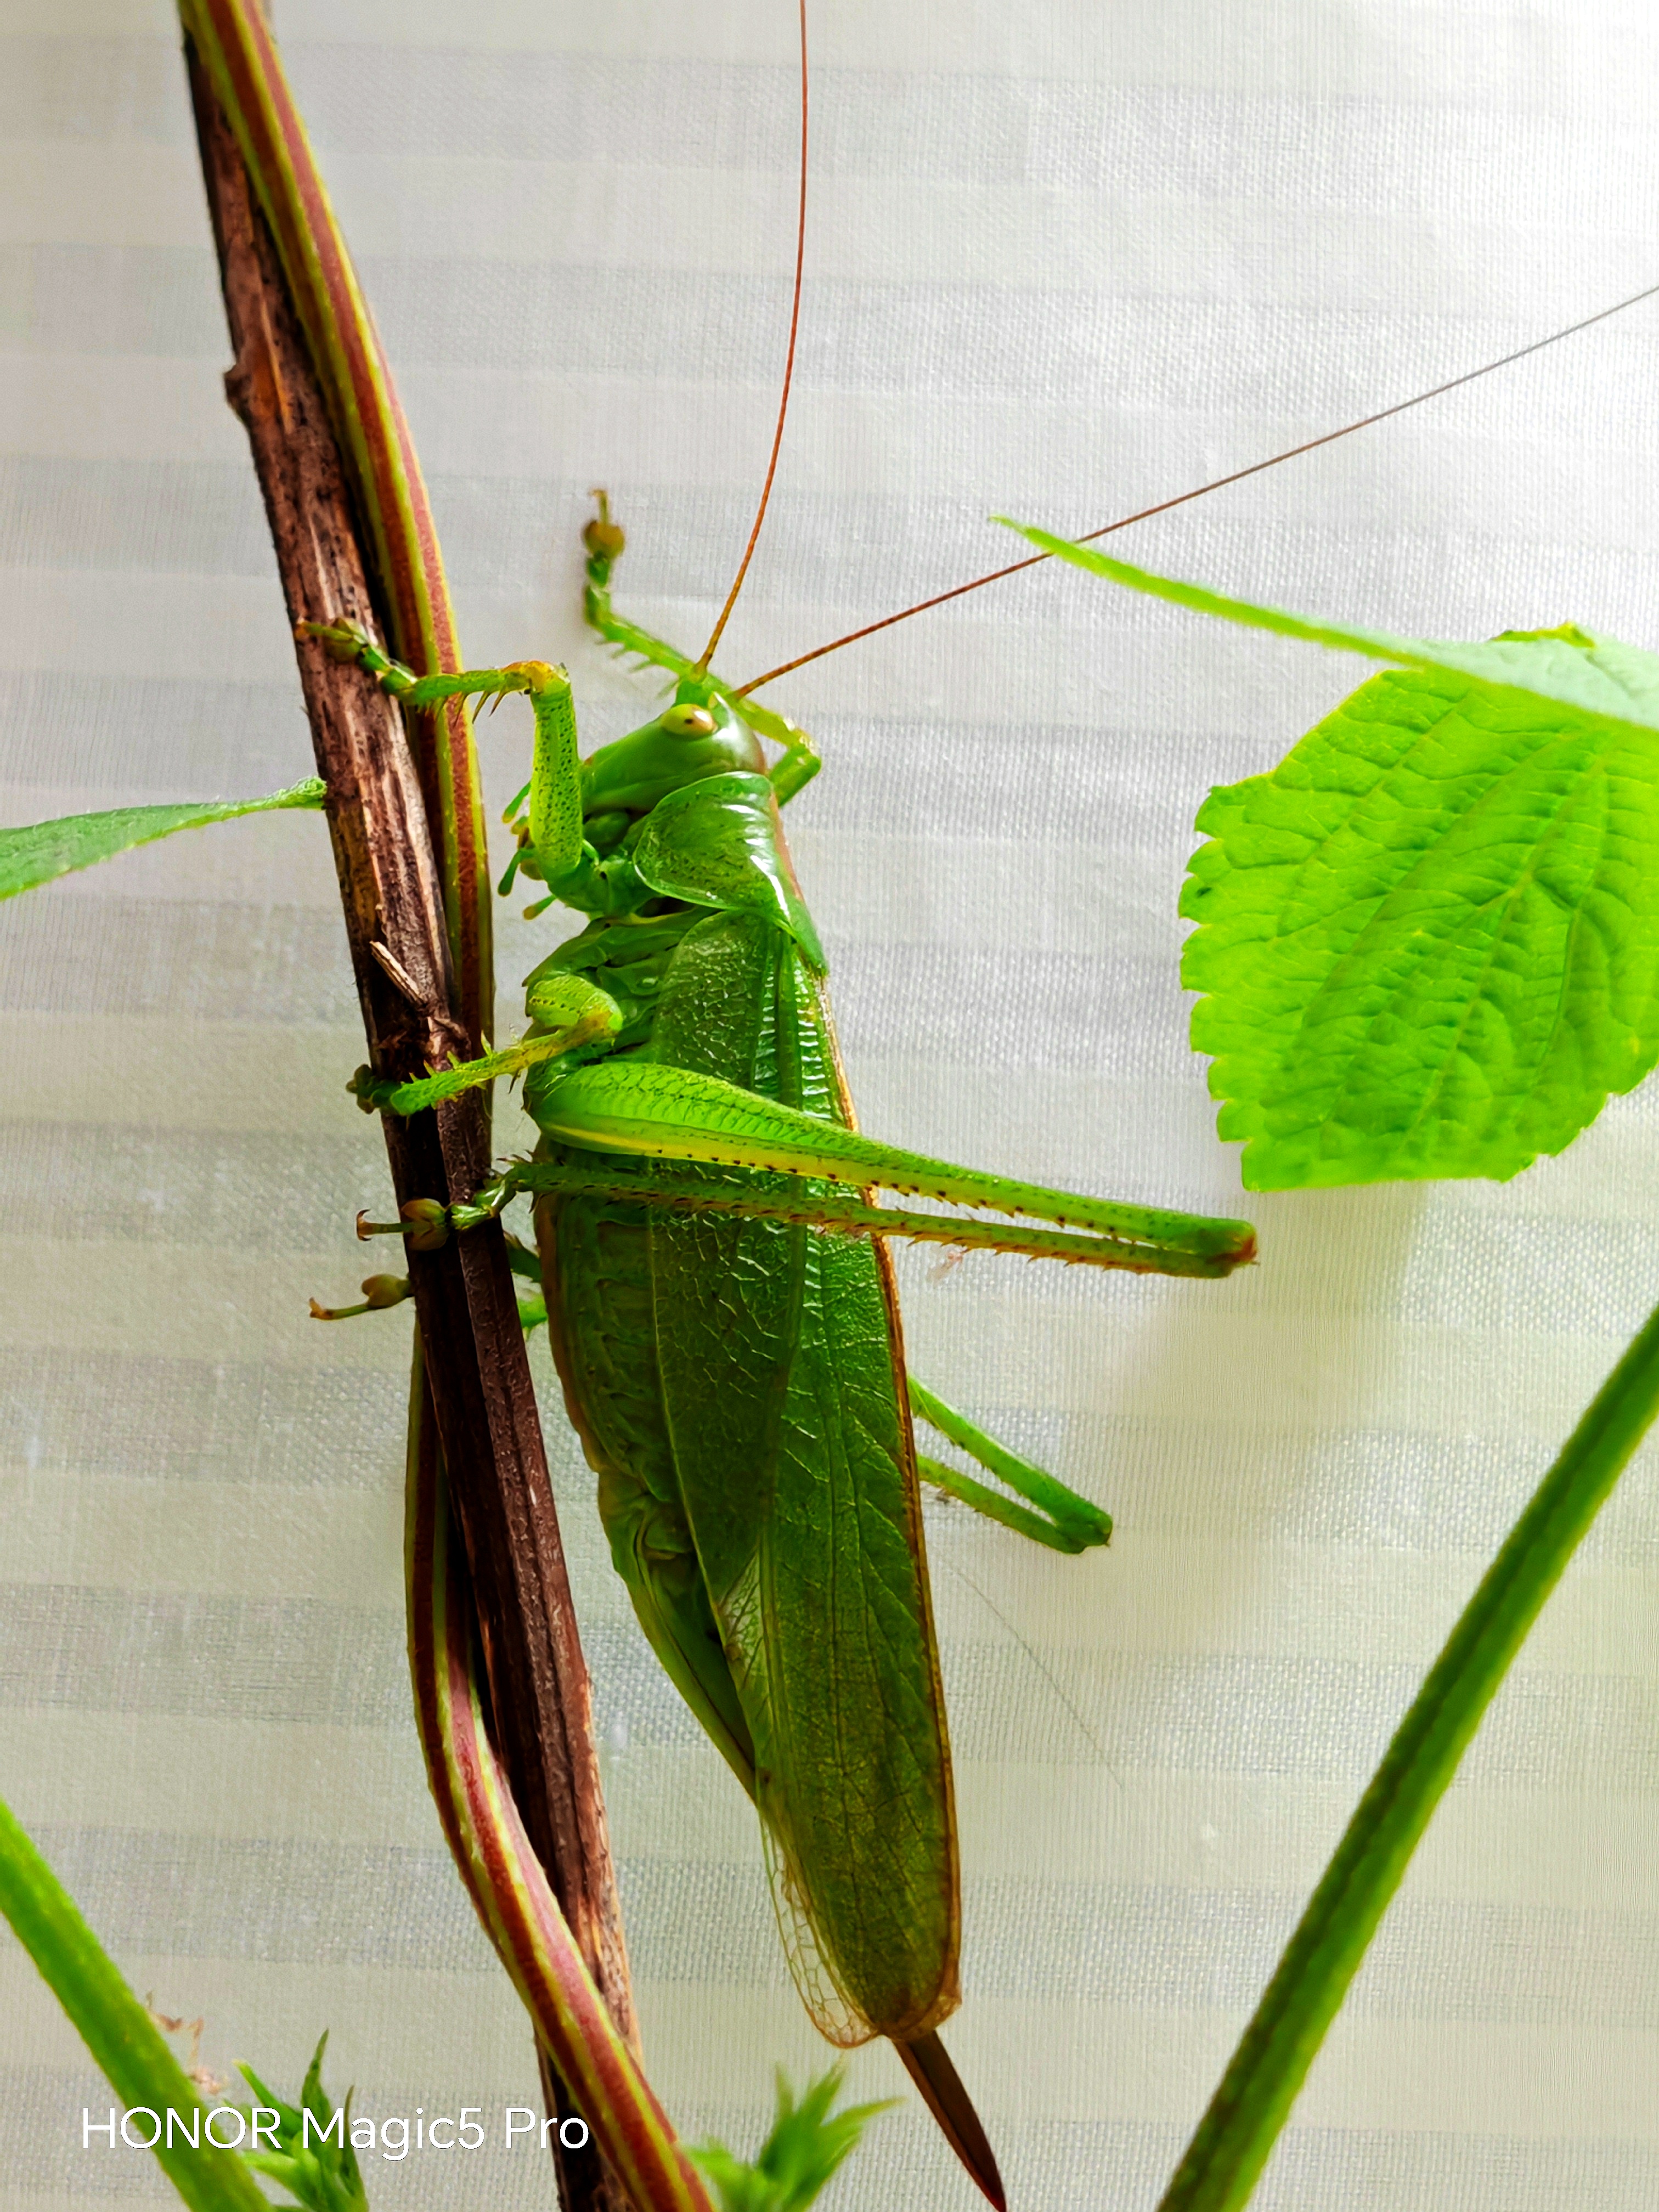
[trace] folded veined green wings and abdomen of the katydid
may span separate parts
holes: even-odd
[[[637,1051],[852,1121],[823,987],[759,916],[681,938]],[[834,2042],[922,2035],[958,2002],[958,1867],[885,1250],[588,1197],[538,1237],[617,1571],[761,1807],[801,1995]]]

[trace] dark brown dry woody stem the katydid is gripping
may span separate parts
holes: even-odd
[[[226,389],[252,445],[290,622],[361,622],[387,635],[276,250],[195,53],[190,91],[234,349]],[[378,1077],[409,1079],[473,1051],[420,779],[398,708],[369,675],[310,639],[299,668],[369,1060]],[[489,1175],[487,1093],[383,1126],[400,1203],[467,1199]],[[500,1230],[411,1250],[409,1281],[507,1776],[586,1969],[635,2044],[588,1674]],[[564,2154],[560,2194],[566,2212],[626,2205],[593,2152]]]

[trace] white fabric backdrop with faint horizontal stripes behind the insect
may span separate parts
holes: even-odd
[[[0,7],[4,818],[307,768],[161,0]],[[427,462],[467,650],[566,655],[584,491],[697,644],[765,456],[792,250],[787,0],[279,0]],[[721,661],[750,675],[1659,276],[1646,9],[818,0],[803,352]],[[1119,544],[1398,630],[1655,644],[1659,310]],[[1245,1208],[1186,1051],[1175,896],[1214,781],[1349,661],[1044,573],[807,670],[792,807],[865,1126],[1221,1212],[1170,1287],[902,1261],[914,1365],[1117,1515],[1066,1562],[936,1513],[960,1772],[951,2046],[1020,2212],[1150,2208],[1391,1723],[1659,1292],[1652,1093],[1509,1188]],[[522,772],[513,712],[491,783]],[[549,940],[504,929],[502,1000]],[[533,2101],[425,1798],[398,1590],[407,1314],[305,1318],[385,1199],[321,825],[0,911],[0,1792],[204,2055],[372,2112]],[[502,1128],[502,1144],[511,1128]],[[538,1352],[546,1380],[546,1356]],[[608,1575],[557,1398],[655,2079],[752,2141],[823,2057],[752,1820]],[[1259,2203],[1659,2201],[1657,1462],[1493,1710]],[[885,2051],[852,2081],[894,2093]],[[0,1944],[0,2205],[153,2201]],[[108,2101],[106,2097],[102,2099]],[[549,2201],[372,2161],[380,2208]],[[834,2203],[967,2212],[914,2104]]]

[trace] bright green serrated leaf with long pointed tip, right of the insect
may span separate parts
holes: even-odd
[[[1442,646],[1221,599],[1409,666],[1199,812],[1181,980],[1250,1190],[1506,1179],[1659,1060],[1659,659],[1582,630]]]

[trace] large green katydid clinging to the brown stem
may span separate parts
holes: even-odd
[[[509,810],[509,880],[538,878],[542,905],[588,916],[531,973],[518,1046],[356,1088],[365,1106],[418,1113],[524,1071],[535,1157],[451,1208],[456,1228],[535,1197],[553,1354],[613,1559],[761,1809],[807,2011],[832,2042],[889,2035],[1000,2201],[936,2035],[958,2002],[958,1856],[918,1482],[1062,1551],[1104,1544],[1110,1520],[907,1378],[878,1239],[1217,1279],[1252,1259],[1254,1234],[856,1133],[779,821],[816,754],[783,717],[613,613],[622,533],[606,509],[586,544],[593,626],[677,679],[661,714],[586,761],[562,670],[416,679],[361,630],[327,633],[409,706],[529,695],[535,763]],[[781,745],[770,768],[761,739]],[[1037,1225],[887,1210],[867,1201],[872,1186]],[[918,1460],[916,1416],[1024,1504]]]

